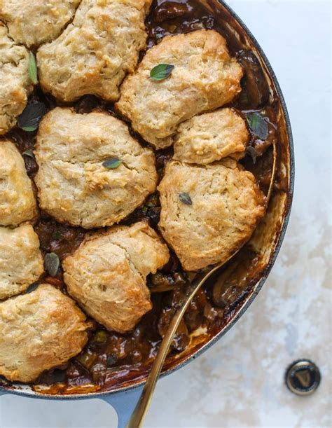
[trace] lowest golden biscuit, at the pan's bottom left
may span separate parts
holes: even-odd
[[[50,284],[0,303],[0,375],[33,382],[45,370],[81,352],[88,340],[85,315]]]

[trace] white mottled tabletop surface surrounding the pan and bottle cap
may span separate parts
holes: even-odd
[[[254,303],[219,343],[160,381],[146,427],[331,427],[331,1],[228,3],[268,56],[289,108],[291,220]],[[284,386],[286,366],[301,357],[322,375],[308,397]],[[101,400],[0,399],[1,428],[114,426]]]

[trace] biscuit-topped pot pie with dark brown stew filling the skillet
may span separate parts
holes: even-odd
[[[265,213],[276,112],[254,54],[197,1],[28,3],[0,0],[0,374],[122,385]],[[38,130],[18,129],[39,104]],[[172,352],[225,322],[241,284],[200,290]]]

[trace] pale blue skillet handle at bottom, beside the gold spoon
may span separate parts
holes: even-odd
[[[125,428],[127,426],[127,422],[130,420],[130,416],[141,396],[142,389],[143,387],[137,387],[130,389],[130,391],[100,397],[106,403],[111,404],[116,413],[118,413],[118,428]]]

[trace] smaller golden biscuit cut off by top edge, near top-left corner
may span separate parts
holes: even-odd
[[[0,19],[17,43],[39,46],[59,36],[80,1],[0,0]]]

